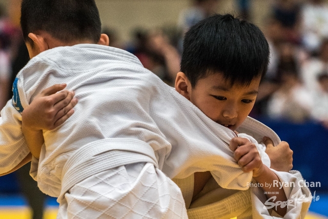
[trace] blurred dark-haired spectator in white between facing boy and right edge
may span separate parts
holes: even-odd
[[[269,99],[268,115],[294,123],[308,120],[313,108],[312,96],[300,81],[294,47],[290,43],[281,45],[276,81],[279,88]]]

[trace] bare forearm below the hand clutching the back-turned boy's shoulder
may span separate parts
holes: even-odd
[[[40,157],[41,147],[45,142],[42,130],[31,130],[25,128],[24,125],[22,129],[28,148],[32,155],[38,159]]]

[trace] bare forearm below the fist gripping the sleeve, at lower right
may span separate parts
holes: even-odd
[[[264,168],[262,173],[256,177],[253,177],[254,180],[262,186],[262,189],[265,192],[268,199],[274,196],[276,197],[274,201],[272,199],[273,203],[277,203],[278,201],[280,202],[287,201],[287,197],[285,195],[283,188],[273,186],[274,181],[279,181],[278,176],[273,171],[271,171],[267,166],[265,165],[263,166]],[[287,209],[286,207],[281,208],[281,205],[279,205],[277,206],[277,210],[275,209],[275,211],[279,215],[284,216],[286,214]]]

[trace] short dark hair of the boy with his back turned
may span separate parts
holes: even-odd
[[[92,40],[101,34],[99,12],[94,0],[23,0],[20,26],[25,42],[28,34],[43,30],[59,41]]]

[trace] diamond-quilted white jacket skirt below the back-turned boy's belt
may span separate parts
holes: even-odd
[[[57,219],[68,218],[188,216],[177,185],[154,165],[139,163],[97,173],[73,186],[60,203],[57,215]]]

